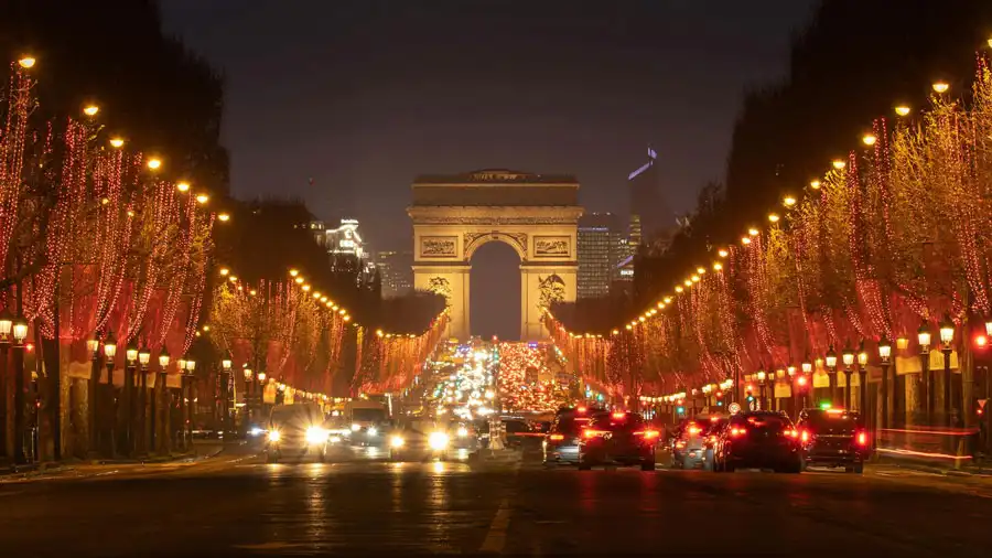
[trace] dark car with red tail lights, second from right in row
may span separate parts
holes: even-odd
[[[714,443],[714,471],[773,469],[802,471],[799,431],[780,411],[738,412],[730,418]]]

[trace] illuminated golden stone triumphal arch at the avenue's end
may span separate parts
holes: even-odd
[[[472,255],[502,242],[520,256],[520,340],[546,339],[541,308],[575,300],[579,181],[495,169],[418,176],[412,191],[413,286],[448,300],[449,335],[472,331]]]

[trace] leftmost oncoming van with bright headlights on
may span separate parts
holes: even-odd
[[[266,461],[324,461],[331,444],[331,431],[316,404],[277,405],[266,427]]]

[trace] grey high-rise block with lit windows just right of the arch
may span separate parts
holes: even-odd
[[[590,213],[579,218],[578,298],[610,294],[613,270],[622,256],[618,223],[612,213]]]

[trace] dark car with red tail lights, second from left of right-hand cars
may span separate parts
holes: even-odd
[[[616,464],[654,471],[655,446],[660,434],[637,412],[597,414],[582,430],[579,469]]]

